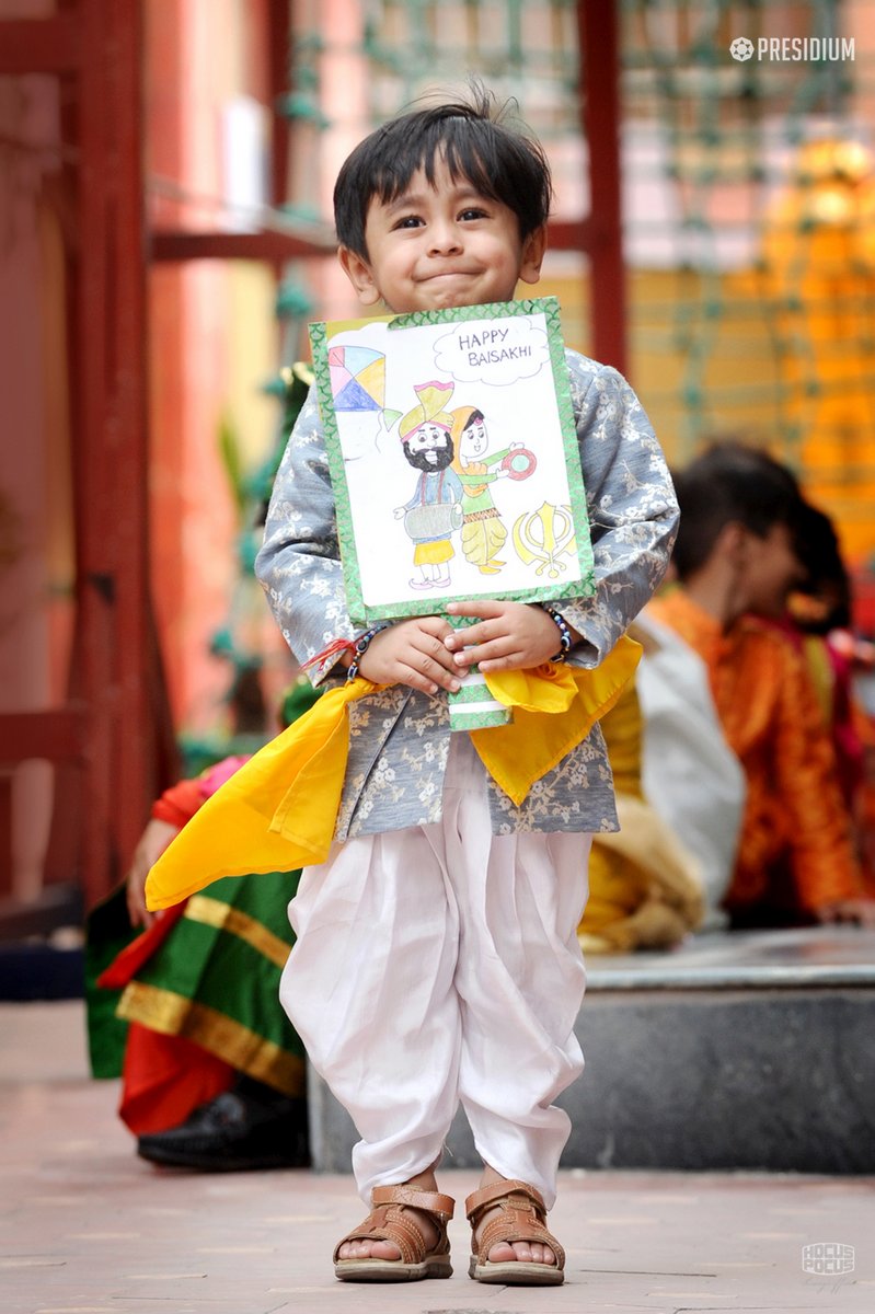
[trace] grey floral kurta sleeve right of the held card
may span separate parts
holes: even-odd
[[[572,661],[596,666],[660,585],[678,527],[662,449],[621,374],[569,352],[572,401],[595,561],[595,594],[554,606],[582,636]]]

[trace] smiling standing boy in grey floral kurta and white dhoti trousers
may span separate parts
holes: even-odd
[[[395,313],[510,301],[519,280],[539,279],[550,193],[540,146],[476,89],[472,104],[388,124],[347,159],[340,264],[363,305]],[[449,1276],[453,1201],[434,1169],[460,1101],[485,1164],[466,1201],[470,1276],[564,1276],[544,1226],[569,1134],[553,1100],[582,1070],[575,932],[591,832],[616,829],[611,773],[596,725],[516,807],[469,736],[451,737],[447,692],[470,665],[529,669],[569,646],[573,664],[596,666],[666,568],[677,505],[648,419],[615,371],[572,351],[568,369],[595,595],[550,611],[453,607],[477,619],[464,649],[438,615],[368,639],[357,668],[386,687],[349,706],[335,842],[289,909],[282,1003],[359,1129],[353,1171],[373,1205],[335,1251],[343,1280]],[[314,396],[280,466],[256,573],[296,657],[318,658],[314,682],[343,675],[359,636]]]

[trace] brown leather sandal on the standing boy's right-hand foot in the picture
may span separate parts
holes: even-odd
[[[480,1238],[476,1229],[487,1209],[498,1206],[501,1214],[490,1218]],[[465,1201],[465,1214],[472,1226],[472,1256],[468,1276],[476,1282],[503,1282],[507,1286],[561,1286],[565,1281],[565,1251],[556,1236],[547,1230],[544,1197],[526,1181],[494,1181],[481,1187]],[[489,1260],[489,1252],[499,1242],[540,1242],[556,1255],[554,1264],[536,1264],[532,1260],[508,1259],[501,1264]]]

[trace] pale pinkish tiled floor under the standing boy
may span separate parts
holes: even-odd
[[[114,1084],[87,1079],[78,1004],[0,1005],[0,1314],[875,1310],[875,1181],[854,1177],[570,1172],[561,1289],[470,1282],[464,1217],[449,1281],[342,1285],[331,1247],[361,1214],[348,1179],[150,1168]],[[460,1201],[474,1184],[441,1175]],[[803,1247],[824,1242],[854,1247],[853,1271],[805,1272]]]

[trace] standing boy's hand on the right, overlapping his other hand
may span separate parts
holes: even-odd
[[[561,646],[556,622],[535,604],[483,599],[451,602],[447,611],[453,616],[478,618],[478,624],[453,629],[444,640],[461,669],[477,666],[483,674],[528,670],[556,657]],[[572,639],[579,639],[574,629]]]

